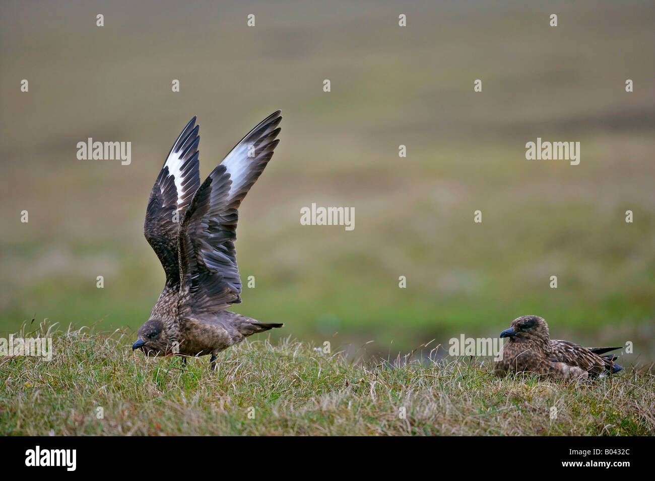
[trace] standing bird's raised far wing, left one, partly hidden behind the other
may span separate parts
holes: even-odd
[[[143,234],[159,257],[170,287],[179,287],[179,224],[200,185],[200,136],[195,123],[193,117],[170,149],[150,192],[143,224]]]

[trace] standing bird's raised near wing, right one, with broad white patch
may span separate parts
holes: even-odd
[[[181,313],[210,313],[241,302],[236,266],[238,207],[280,142],[277,111],[244,137],[196,191],[179,229]]]

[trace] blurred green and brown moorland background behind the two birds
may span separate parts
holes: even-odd
[[[282,109],[236,244],[256,287],[235,310],[286,323],[273,337],[394,355],[530,313],[655,359],[651,1],[135,4],[0,5],[0,332],[137,329],[164,283],[142,229],[176,136],[198,116],[204,179]],[[132,164],[77,160],[87,137],[131,141]],[[580,165],[526,160],[536,137],[580,141]],[[355,229],[301,225],[312,202],[354,207]]]

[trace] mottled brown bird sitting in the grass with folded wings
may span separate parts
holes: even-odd
[[[614,355],[604,355],[619,347],[584,347],[569,341],[552,340],[548,324],[538,315],[523,315],[512,327],[500,333],[508,338],[502,359],[495,362],[495,373],[531,372],[553,379],[595,378],[614,374],[623,368]]]

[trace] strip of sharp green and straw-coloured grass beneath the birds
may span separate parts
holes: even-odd
[[[212,373],[207,357],[181,368],[132,353],[134,332],[94,329],[24,325],[22,336],[52,337],[54,357],[0,359],[0,435],[655,433],[647,369],[591,383],[500,379],[477,359],[356,363],[261,336],[221,353]]]

